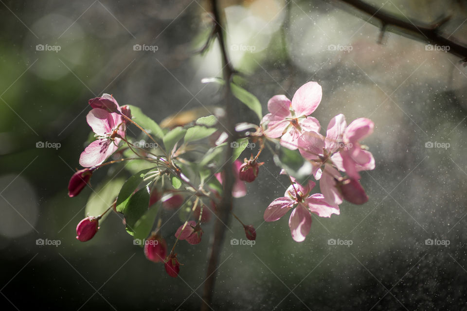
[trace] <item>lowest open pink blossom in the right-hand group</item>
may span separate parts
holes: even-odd
[[[311,227],[311,214],[319,217],[331,217],[332,214],[340,214],[339,206],[329,204],[321,193],[309,195],[315,183],[308,181],[304,187],[292,178],[293,184],[287,188],[283,197],[275,199],[264,212],[264,220],[273,222],[284,216],[291,208],[294,208],[288,220],[288,226],[292,238],[296,242],[305,240]]]

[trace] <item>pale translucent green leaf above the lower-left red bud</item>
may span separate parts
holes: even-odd
[[[89,214],[90,216],[97,217],[106,211],[115,200],[118,190],[122,187],[124,181],[124,178],[117,178],[102,183],[104,186],[96,189],[95,192],[90,195],[88,204],[86,204],[85,215]],[[108,213],[105,214],[99,222],[102,223],[107,215]]]

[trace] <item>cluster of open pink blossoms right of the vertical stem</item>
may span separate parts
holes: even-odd
[[[354,204],[368,201],[359,183],[359,171],[375,168],[373,155],[359,143],[373,132],[374,123],[360,118],[347,126],[344,115],[339,114],[329,122],[324,137],[319,121],[309,116],[321,99],[321,86],[308,82],[295,92],[292,101],[284,95],[272,97],[268,102],[269,114],[262,120],[264,135],[280,138],[280,144],[288,149],[298,149],[311,163],[310,174],[320,181],[322,193],[309,195],[315,183],[309,181],[304,187],[291,177],[291,186],[284,197],[272,201],[264,212],[264,220],[272,222],[294,208],[288,225],[297,242],[304,241],[310,230],[310,213],[330,217],[339,215],[343,199]],[[346,176],[342,177],[340,172]]]

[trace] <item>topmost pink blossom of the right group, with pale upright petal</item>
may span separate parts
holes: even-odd
[[[265,135],[281,137],[281,145],[297,149],[297,139],[303,132],[319,132],[320,122],[309,115],[316,110],[323,95],[321,86],[308,82],[301,86],[290,101],[285,95],[275,95],[268,102],[269,113],[261,123],[268,123]]]

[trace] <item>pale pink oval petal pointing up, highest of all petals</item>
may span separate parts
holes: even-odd
[[[316,82],[308,82],[295,92],[292,98],[292,108],[296,117],[308,116],[316,110],[321,102],[323,91]]]

